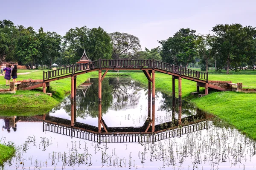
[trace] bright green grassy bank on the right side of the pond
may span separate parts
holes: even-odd
[[[254,73],[254,74],[252,74]],[[256,88],[256,72],[250,74],[209,74],[210,80],[230,80],[233,83],[242,82],[244,88]],[[167,94],[172,94],[172,76],[156,73],[156,88]],[[142,73],[131,73],[131,78],[147,85],[147,79]],[[178,82],[176,83],[176,96],[178,92]],[[200,88],[204,93],[204,88]],[[197,98],[190,96],[190,92],[196,91],[196,83],[182,79],[182,96],[194,102],[198,108],[208,113],[212,113],[223,119],[230,125],[236,127],[250,138],[256,139],[256,94],[228,92],[210,92],[207,96]]]

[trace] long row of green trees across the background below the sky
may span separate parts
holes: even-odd
[[[198,65],[208,71],[239,69],[256,65],[256,29],[240,24],[218,24],[211,34],[196,34],[190,28],[181,28],[160,46],[143,51],[140,40],[128,33],[108,34],[101,27],[71,28],[61,35],[34,30],[32,27],[15,26],[10,20],[0,21],[0,64],[3,61],[38,68],[51,65],[71,65],[77,62],[84,49],[93,61],[104,59],[156,59],[189,67]]]

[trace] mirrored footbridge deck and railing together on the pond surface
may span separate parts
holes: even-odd
[[[74,116],[74,114],[71,114],[71,116]],[[73,119],[75,118],[73,117]],[[148,119],[142,127],[108,127],[109,132],[102,130],[102,133],[98,133],[98,127],[96,126],[80,122],[76,122],[75,126],[72,126],[72,122],[68,119],[46,115],[43,121],[43,131],[99,143],[157,142],[176,136],[182,136],[186,133],[207,129],[208,117],[205,113],[197,110],[196,115],[182,118],[181,125],[179,125],[179,121],[176,119],[172,122],[156,125],[155,129],[157,131],[154,133],[143,132],[147,124]]]

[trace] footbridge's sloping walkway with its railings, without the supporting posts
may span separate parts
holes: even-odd
[[[76,76],[97,70],[155,70],[161,73],[170,74],[175,77],[182,77],[195,82],[207,83],[208,73],[195,71],[182,66],[172,65],[154,59],[147,60],[125,60],[125,59],[99,59],[93,62],[80,65],[72,65],[66,68],[44,72],[43,81],[50,82],[58,79]]]

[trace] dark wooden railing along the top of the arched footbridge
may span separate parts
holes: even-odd
[[[201,71],[195,71],[189,68],[184,68],[181,65],[172,65],[154,59],[98,59],[85,64],[71,65],[66,68],[44,71],[43,80],[61,77],[68,74],[73,75],[79,71],[91,70],[94,68],[158,68],[179,74],[180,76],[184,75],[195,79],[204,79],[208,82],[208,72],[204,73]]]

